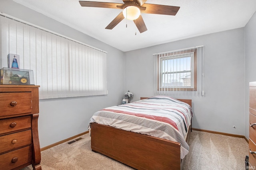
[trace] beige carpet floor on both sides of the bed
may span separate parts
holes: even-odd
[[[89,134],[72,144],[41,152],[43,170],[133,170],[107,156],[92,152]],[[192,131],[184,170],[244,170],[248,143],[242,138]],[[22,168],[32,170],[32,166]]]

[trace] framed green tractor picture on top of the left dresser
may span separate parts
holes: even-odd
[[[2,68],[0,84],[34,85],[33,70]]]

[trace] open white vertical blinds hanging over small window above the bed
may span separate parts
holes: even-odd
[[[203,46],[154,54],[155,94],[203,95],[203,54]]]

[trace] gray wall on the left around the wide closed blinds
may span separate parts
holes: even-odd
[[[88,130],[95,111],[118,105],[124,95],[124,53],[67,25],[30,10],[12,0],[1,0],[0,12],[107,51],[108,95],[39,101],[40,147],[46,147]]]

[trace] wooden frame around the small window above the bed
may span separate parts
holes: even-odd
[[[173,58],[182,58],[185,54],[188,53],[194,53],[193,57],[194,57],[194,65],[191,65],[191,77],[193,77],[193,82],[191,82],[193,84],[193,86],[185,86],[184,88],[182,88],[182,86],[176,86],[176,87],[172,87],[172,86],[168,86],[168,87],[162,87],[162,59],[163,58],[168,58],[173,56]],[[180,57],[177,57],[178,55],[181,55]],[[183,56],[182,56],[183,55]],[[162,59],[161,59],[162,58]],[[192,61],[192,60],[191,60]],[[197,49],[189,49],[189,50],[184,50],[184,51],[174,51],[174,52],[170,52],[170,53],[164,53],[164,54],[158,54],[157,55],[157,90],[158,91],[197,91]],[[191,64],[193,64],[191,62]],[[170,72],[171,73],[171,72]],[[162,88],[161,88],[162,87]]]

